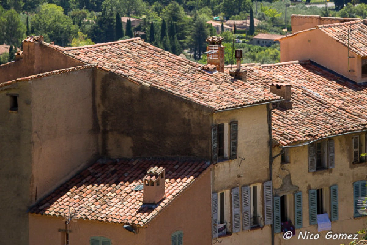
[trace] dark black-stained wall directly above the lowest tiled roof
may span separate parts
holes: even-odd
[[[211,110],[112,72],[95,72],[101,154],[210,159]]]

